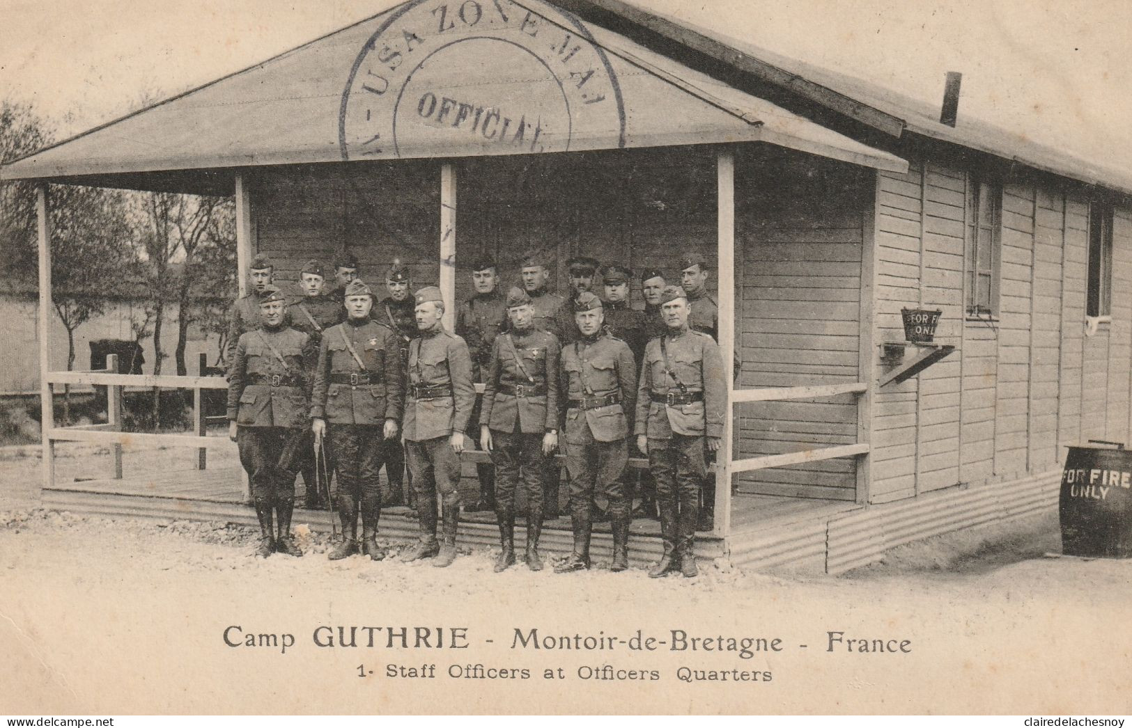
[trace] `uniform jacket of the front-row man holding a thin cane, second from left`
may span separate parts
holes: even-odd
[[[365,372],[346,340],[366,365]],[[352,381],[341,381],[351,376]],[[367,320],[360,326],[346,321],[326,330],[318,348],[311,417],[335,425],[380,425],[386,419],[400,423],[404,404],[404,371],[396,336],[388,327]]]

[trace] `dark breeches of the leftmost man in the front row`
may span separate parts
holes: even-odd
[[[239,427],[240,465],[261,505],[294,503],[294,476],[301,459],[303,428]]]

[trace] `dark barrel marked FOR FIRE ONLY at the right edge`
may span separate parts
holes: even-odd
[[[1132,450],[1071,447],[1058,512],[1063,553],[1132,557]]]

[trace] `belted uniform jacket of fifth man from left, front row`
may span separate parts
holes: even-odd
[[[612,336],[599,336],[595,341],[578,339],[563,347],[561,355],[563,409],[566,414],[566,441],[582,437],[575,435],[583,424],[598,442],[614,442],[629,435],[628,417],[635,414],[636,362],[628,345]],[[584,409],[585,397],[620,395],[619,404]],[[626,416],[628,415],[628,417]]]

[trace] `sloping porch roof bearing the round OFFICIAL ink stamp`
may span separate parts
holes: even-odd
[[[540,0],[413,0],[0,168],[230,193],[241,167],[766,142],[907,163]]]

